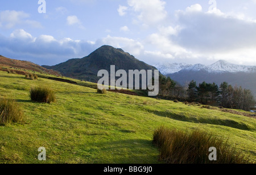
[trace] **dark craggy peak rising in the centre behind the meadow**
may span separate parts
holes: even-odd
[[[110,72],[110,65],[115,65],[115,70],[156,70],[154,66],[147,65],[122,49],[115,49],[109,45],[101,46],[87,57],[69,59],[59,65],[43,67],[60,71],[70,78],[97,82],[98,71],[104,69]]]

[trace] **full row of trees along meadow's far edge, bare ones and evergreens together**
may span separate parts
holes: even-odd
[[[249,110],[254,102],[250,89],[232,87],[223,82],[220,87],[216,83],[197,83],[192,80],[187,87],[180,86],[171,78],[159,77],[159,95],[168,99],[199,102],[205,105],[223,106],[224,108]]]

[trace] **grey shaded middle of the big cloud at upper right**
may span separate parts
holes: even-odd
[[[178,12],[182,29],[170,39],[197,52],[226,52],[241,47],[256,47],[256,23],[236,16],[208,12]]]

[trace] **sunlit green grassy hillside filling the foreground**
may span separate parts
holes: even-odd
[[[0,71],[0,96],[18,101],[27,116],[24,124],[0,126],[0,163],[160,163],[152,134],[161,125],[212,132],[256,158],[255,118],[80,85]],[[52,88],[56,103],[32,102],[32,86]],[[46,147],[45,162],[39,147]]]

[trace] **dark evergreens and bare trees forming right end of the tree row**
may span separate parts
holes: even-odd
[[[250,89],[232,87],[227,82],[221,83],[220,87],[215,83],[205,82],[196,86],[196,82],[192,80],[188,84],[187,92],[189,101],[199,101],[207,105],[220,105],[224,108],[249,110],[254,100]]]

